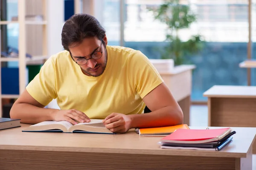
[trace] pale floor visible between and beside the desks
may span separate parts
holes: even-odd
[[[190,126],[208,125],[208,108],[207,105],[192,105],[190,107]],[[256,170],[256,154],[253,154],[253,170]]]

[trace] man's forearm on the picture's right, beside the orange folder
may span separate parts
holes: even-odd
[[[183,123],[182,111],[172,106],[166,106],[151,113],[129,116],[131,116],[131,128],[163,127]]]

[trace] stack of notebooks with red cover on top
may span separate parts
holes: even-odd
[[[188,150],[221,150],[232,141],[236,131],[218,129],[177,129],[159,142],[161,148]]]

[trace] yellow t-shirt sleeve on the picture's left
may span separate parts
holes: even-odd
[[[50,57],[26,87],[28,93],[44,106],[57,97],[55,75],[55,65],[52,57]]]

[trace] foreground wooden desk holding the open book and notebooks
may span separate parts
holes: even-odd
[[[0,131],[1,170],[252,170],[256,128],[234,127],[221,151],[161,149],[161,137]],[[206,128],[206,127],[191,127]]]

